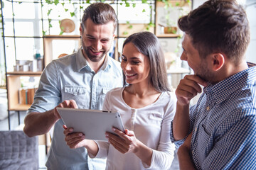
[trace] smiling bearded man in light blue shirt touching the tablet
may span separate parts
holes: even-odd
[[[105,160],[90,159],[84,147],[70,149],[66,145],[56,107],[101,110],[107,91],[123,86],[120,63],[107,55],[116,28],[117,15],[109,4],[91,4],[80,24],[80,50],[53,60],[41,75],[23,131],[33,137],[45,134],[54,125],[48,169],[105,169]]]

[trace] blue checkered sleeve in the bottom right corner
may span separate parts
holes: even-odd
[[[255,108],[245,113],[237,123],[228,125],[226,120],[220,126],[215,145],[203,161],[201,169],[255,169],[256,168],[256,116]]]

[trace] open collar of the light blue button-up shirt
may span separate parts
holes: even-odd
[[[77,67],[78,67],[78,72],[80,72],[81,69],[85,68],[90,72],[94,72],[91,68],[89,63],[87,62],[85,56],[82,54],[82,47],[80,47],[80,49],[78,50],[78,55],[76,57],[76,61],[77,61]],[[102,67],[100,69],[102,69],[103,71],[107,71],[108,69],[110,69],[111,64],[110,64],[110,60],[109,60],[109,53],[107,53],[107,56],[105,58],[104,63],[102,64]]]

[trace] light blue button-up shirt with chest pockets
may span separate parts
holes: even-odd
[[[120,63],[107,57],[100,70],[90,68],[80,49],[78,53],[53,60],[41,75],[31,112],[45,112],[64,100],[74,99],[78,108],[102,110],[105,94],[123,86]],[[104,121],[104,120],[102,120]],[[63,121],[55,123],[46,166],[53,170],[105,169],[104,159],[90,159],[85,148],[70,149],[63,135]]]

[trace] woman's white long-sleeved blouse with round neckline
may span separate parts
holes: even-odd
[[[139,141],[153,150],[151,166],[142,163],[134,153],[122,154],[108,142],[97,142],[97,158],[107,157],[106,169],[169,169],[174,159],[175,146],[170,140],[171,120],[176,112],[176,96],[163,92],[156,102],[144,108],[131,108],[124,102],[124,87],[109,91],[103,110],[118,111],[124,128],[134,131]]]

